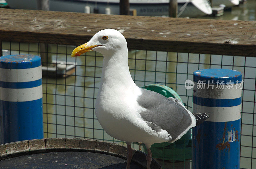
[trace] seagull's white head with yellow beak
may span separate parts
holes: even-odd
[[[89,42],[74,49],[71,56],[80,56],[92,50],[100,52],[104,56],[111,55],[121,49],[127,51],[127,43],[124,36],[115,29],[104,29],[96,33]]]

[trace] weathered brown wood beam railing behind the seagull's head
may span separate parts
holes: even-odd
[[[0,9],[0,40],[80,45],[123,31],[129,49],[256,56],[256,22]]]

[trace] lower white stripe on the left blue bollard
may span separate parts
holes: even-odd
[[[27,102],[41,99],[42,85],[34,88],[2,88],[0,87],[0,100],[8,102]]]

